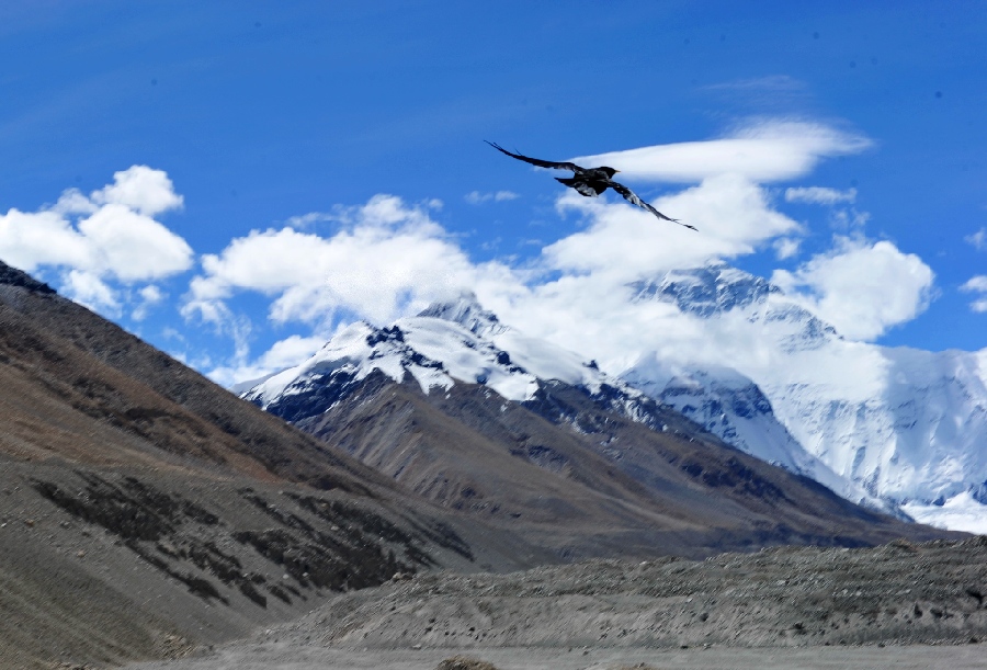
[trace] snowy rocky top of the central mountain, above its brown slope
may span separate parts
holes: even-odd
[[[593,361],[500,322],[473,295],[435,304],[415,317],[376,328],[350,325],[302,365],[259,381],[242,398],[297,422],[325,412],[374,371],[415,379],[426,394],[457,382],[481,384],[553,421],[571,421],[552,399],[554,385],[581,389],[601,408],[656,430],[681,418],[648,395],[602,372]]]

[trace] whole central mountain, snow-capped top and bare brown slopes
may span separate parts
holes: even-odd
[[[353,323],[242,397],[569,558],[929,532],[742,453],[472,296],[384,328]]]

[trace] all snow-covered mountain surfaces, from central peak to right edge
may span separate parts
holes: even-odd
[[[644,333],[645,353],[608,375],[525,337],[467,295],[388,328],[354,325],[307,363],[245,385],[242,395],[313,430],[314,417],[372,371],[394,382],[407,375],[426,395],[480,384],[527,407],[543,389],[564,385],[653,429],[667,425],[673,409],[729,445],[872,509],[955,530],[987,525],[985,352],[846,340],[778,286],[722,263],[633,288],[635,302],[673,304],[704,328],[737,333],[737,343],[731,350],[723,338],[714,360],[670,361],[647,351]]]

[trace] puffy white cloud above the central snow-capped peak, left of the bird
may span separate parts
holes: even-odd
[[[509,276],[496,263],[474,265],[423,207],[378,195],[340,209],[331,237],[292,228],[251,231],[219,254],[203,257],[182,313],[219,322],[226,300],[241,291],[272,298],[277,322],[329,321],[347,311],[384,323],[432,299],[483,283],[487,273]]]

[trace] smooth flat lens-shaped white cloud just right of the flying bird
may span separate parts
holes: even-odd
[[[765,183],[803,177],[822,158],[859,154],[871,144],[863,136],[821,124],[768,121],[723,139],[644,147],[574,161],[611,166],[632,180],[688,183],[736,174]]]

